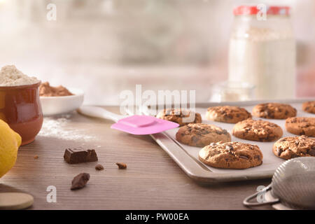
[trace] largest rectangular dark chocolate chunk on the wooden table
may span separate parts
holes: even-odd
[[[94,149],[66,148],[66,151],[64,151],[64,160],[69,164],[95,162],[97,161],[97,154]]]

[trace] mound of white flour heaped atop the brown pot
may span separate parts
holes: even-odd
[[[6,65],[0,71],[0,86],[31,85],[38,83],[35,77],[29,77],[14,65]]]

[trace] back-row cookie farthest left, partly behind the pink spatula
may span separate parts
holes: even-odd
[[[178,123],[179,126],[202,122],[200,113],[183,109],[164,109],[156,117]]]

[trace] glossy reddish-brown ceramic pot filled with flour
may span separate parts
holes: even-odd
[[[20,134],[22,145],[34,141],[43,125],[40,84],[0,86],[0,119]]]

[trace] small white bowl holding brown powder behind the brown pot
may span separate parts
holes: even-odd
[[[40,97],[43,115],[54,116],[78,109],[83,104],[84,92],[75,88],[69,88],[69,91],[73,95],[65,97]]]

